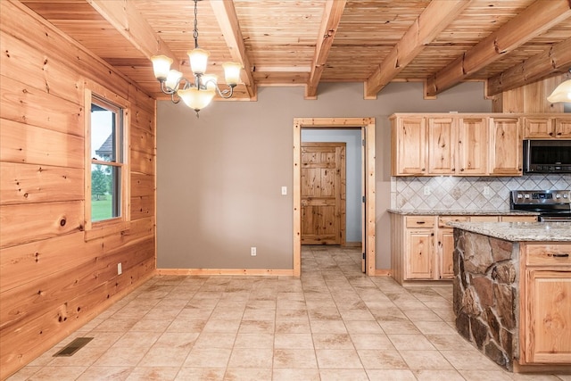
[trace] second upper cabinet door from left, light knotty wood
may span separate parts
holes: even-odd
[[[456,133],[456,121],[452,118],[428,118],[428,174],[456,172]]]

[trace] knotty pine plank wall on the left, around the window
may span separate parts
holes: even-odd
[[[18,1],[0,3],[4,379],[153,276],[155,102]],[[131,223],[86,242],[84,89],[91,83],[131,105]]]

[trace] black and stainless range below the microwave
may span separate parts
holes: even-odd
[[[540,221],[571,222],[571,190],[511,191],[512,211],[537,211]]]

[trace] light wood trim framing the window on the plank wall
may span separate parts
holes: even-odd
[[[91,157],[91,104],[93,98],[98,97],[105,102],[114,104],[120,108],[122,115],[122,130],[121,134],[121,161],[120,162],[99,162],[104,165],[111,165],[120,167],[120,217],[112,219],[103,219],[100,221],[91,220],[91,164],[94,163]],[[106,236],[109,234],[117,233],[127,230],[130,227],[130,153],[129,147],[129,133],[130,133],[130,119],[129,110],[130,103],[114,94],[112,91],[104,87],[98,86],[94,83],[86,86],[85,89],[85,176],[84,176],[84,233],[85,240],[95,239],[98,237]]]

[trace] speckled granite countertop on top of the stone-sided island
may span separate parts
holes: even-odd
[[[571,242],[571,222],[449,222],[447,225],[512,242]]]

